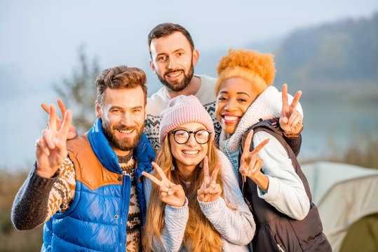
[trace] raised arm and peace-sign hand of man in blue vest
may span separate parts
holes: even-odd
[[[19,229],[32,229],[47,221],[63,202],[69,202],[69,195],[72,195],[72,187],[68,188],[69,191],[65,190],[69,183],[64,181],[69,171],[64,169],[64,161],[67,158],[65,143],[71,111],[65,113],[59,130],[55,123],[55,106],[50,106],[49,112],[49,128],[43,130],[43,136],[36,141],[36,164],[13,203],[12,221]],[[61,195],[54,195],[57,190]]]

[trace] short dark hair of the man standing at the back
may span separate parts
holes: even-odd
[[[189,31],[182,27],[181,25],[173,24],[173,23],[163,23],[160,25],[157,25],[154,29],[152,29],[148,34],[148,48],[151,45],[151,41],[154,38],[163,38],[166,36],[169,36],[175,32],[181,32],[182,35],[187,38],[187,40],[190,43],[191,50],[194,50],[194,43],[193,39],[191,39],[191,36],[189,34]],[[149,49],[149,55],[151,56],[151,50]]]

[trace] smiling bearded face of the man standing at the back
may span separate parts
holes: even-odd
[[[179,31],[151,40],[151,69],[163,85],[173,92],[184,90],[193,78],[198,51],[192,50],[187,38]]]

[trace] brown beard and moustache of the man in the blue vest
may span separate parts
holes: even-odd
[[[142,136],[144,129],[144,123],[141,127],[126,127],[123,125],[115,125],[113,127],[113,132],[110,130],[110,125],[108,121],[102,120],[102,130],[104,131],[105,137],[107,137],[107,140],[113,144],[116,148],[119,148],[121,151],[131,151],[135,146],[137,146],[140,137]],[[133,139],[129,138],[116,138],[114,135],[114,131],[116,130],[135,130],[137,132],[137,136]]]

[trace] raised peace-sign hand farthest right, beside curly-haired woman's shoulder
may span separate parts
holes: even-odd
[[[303,116],[295,109],[299,102],[302,91],[295,94],[292,103],[288,102],[288,85],[282,86],[282,111],[280,116],[280,127],[286,134],[298,135],[302,131]]]

